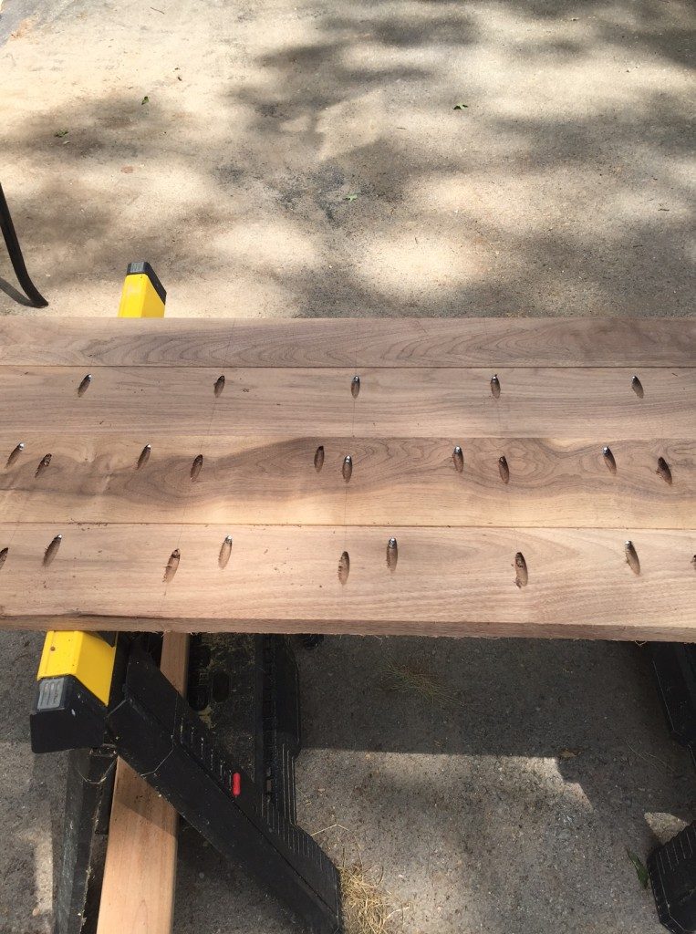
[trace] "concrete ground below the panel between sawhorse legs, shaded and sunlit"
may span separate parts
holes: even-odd
[[[693,819],[696,776],[637,646],[330,637],[298,658],[301,819],[332,853],[357,837],[442,929],[659,930],[626,848]]]

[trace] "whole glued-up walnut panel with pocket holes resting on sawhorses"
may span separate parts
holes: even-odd
[[[6,318],[0,625],[694,638],[694,351],[692,320]]]

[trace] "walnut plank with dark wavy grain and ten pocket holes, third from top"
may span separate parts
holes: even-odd
[[[5,522],[692,529],[696,441],[0,434]],[[616,463],[603,457],[609,440]],[[323,448],[320,470],[315,455]],[[36,469],[47,453],[50,464]],[[192,481],[192,465],[203,454]],[[353,468],[347,483],[343,460]],[[508,482],[501,477],[505,458]],[[658,473],[670,466],[671,483]],[[7,460],[11,464],[7,465]]]

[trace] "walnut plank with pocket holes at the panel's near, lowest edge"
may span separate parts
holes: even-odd
[[[48,567],[52,537],[64,539]],[[232,556],[218,557],[225,535]],[[398,567],[386,548],[398,540]],[[637,549],[641,573],[628,566],[624,541]],[[236,620],[269,620],[326,630],[382,631],[438,624],[568,623],[611,619],[617,626],[696,627],[696,536],[634,529],[412,529],[262,526],[0,525],[8,547],[0,569],[3,618],[139,616],[152,629],[163,619],[206,619],[234,630]],[[176,575],[163,581],[172,552]],[[348,583],[338,560],[348,551]],[[515,555],[529,569],[516,587]],[[211,620],[218,620],[217,624]],[[346,626],[348,624],[348,629]],[[166,625],[166,624],[165,624]],[[313,631],[312,629],[307,631]]]

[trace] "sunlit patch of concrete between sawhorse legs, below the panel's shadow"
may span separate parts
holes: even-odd
[[[313,777],[327,767],[317,790]],[[510,919],[552,930],[559,907],[582,904],[588,885],[614,894],[592,929],[632,929],[632,867],[616,873],[598,860],[615,847],[625,858],[615,844],[624,831],[595,813],[580,785],[563,781],[553,758],[366,753],[356,762],[305,750],[298,792],[301,825],[330,854],[359,852],[365,865],[389,867],[383,886],[403,909],[405,931],[503,934]],[[392,834],[392,824],[407,829]]]

